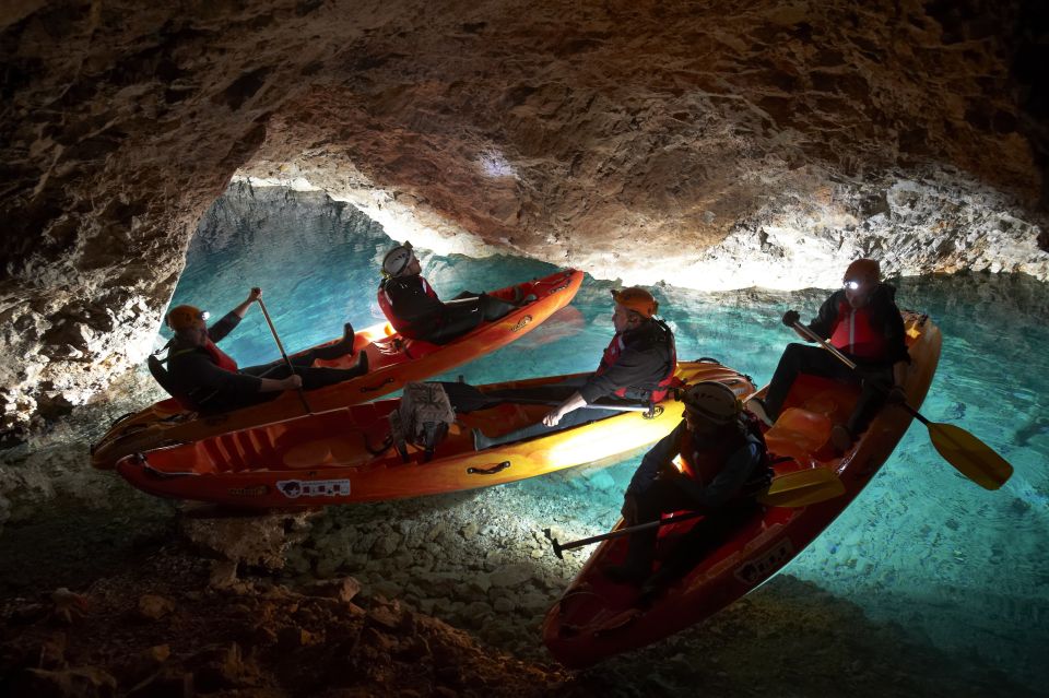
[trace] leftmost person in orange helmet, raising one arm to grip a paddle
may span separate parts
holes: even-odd
[[[167,371],[161,385],[184,407],[202,414],[227,412],[267,402],[285,390],[314,390],[367,372],[367,354],[364,352],[361,352],[353,368],[310,366],[318,358],[331,359],[353,354],[354,332],[350,323],[343,328],[343,338],[339,342],[290,357],[294,372],[288,370],[283,359],[239,368],[215,343],[229,334],[251,304],[261,297],[262,289],[252,288],[244,303],[210,328],[207,313],[193,306],[181,305],[168,311],[166,322],[175,332],[175,338],[168,346]]]

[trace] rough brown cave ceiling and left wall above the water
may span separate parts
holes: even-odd
[[[1047,277],[1038,3],[726,8],[7,3],[3,427],[143,358],[235,175],[632,282]]]

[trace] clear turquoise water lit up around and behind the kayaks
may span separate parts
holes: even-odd
[[[262,286],[288,351],[333,339],[342,322],[381,319],[379,262],[391,241],[353,209],[315,194],[233,190],[195,238],[174,301],[217,318]],[[444,297],[495,288],[553,268],[534,260],[473,260],[420,250],[424,274]],[[787,569],[893,622],[934,646],[971,655],[1037,685],[1049,682],[1049,309],[1047,286],[1019,276],[898,280],[900,306],[932,316],[944,342],[922,413],[973,431],[1016,469],[987,492],[943,462],[912,425],[892,459],[849,509]],[[611,329],[609,282],[587,279],[571,307],[521,341],[463,366],[470,382],[590,370]],[[704,294],[653,289],[675,329],[682,358],[712,356],[769,379],[783,344],[786,307],[813,313],[826,292]],[[251,310],[223,347],[241,365],[276,356],[261,313]],[[524,501],[573,478],[612,477],[592,497],[593,520],[611,525],[638,458],[597,471],[507,487]]]

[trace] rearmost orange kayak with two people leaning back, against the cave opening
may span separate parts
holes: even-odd
[[[494,352],[528,334],[571,303],[582,284],[582,272],[574,269],[563,270],[543,279],[492,292],[492,296],[511,299],[519,291],[517,297],[534,295],[535,300],[495,322],[482,323],[472,332],[444,345],[401,336],[388,322],[362,330],[354,338],[354,347],[368,355],[368,372],[307,392],[310,410],[319,413],[367,402],[400,390],[406,382],[424,380]],[[338,341],[332,340],[323,345]],[[356,353],[338,359],[318,360],[315,365],[349,368],[355,360]],[[207,416],[184,411],[175,400],[163,400],[117,419],[98,443],[92,447],[91,461],[95,468],[110,470],[118,460],[131,453],[283,422],[303,413],[303,403],[296,391],[287,391],[262,404]]]

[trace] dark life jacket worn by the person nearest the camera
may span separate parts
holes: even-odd
[[[726,425],[720,434],[696,443],[692,431],[681,430],[677,450],[681,472],[702,485],[709,485],[724,468],[728,459],[747,443],[758,447],[761,462],[743,486],[744,494],[757,494],[771,482],[773,464],[762,434],[762,423],[750,412],[742,412],[736,422]]]

